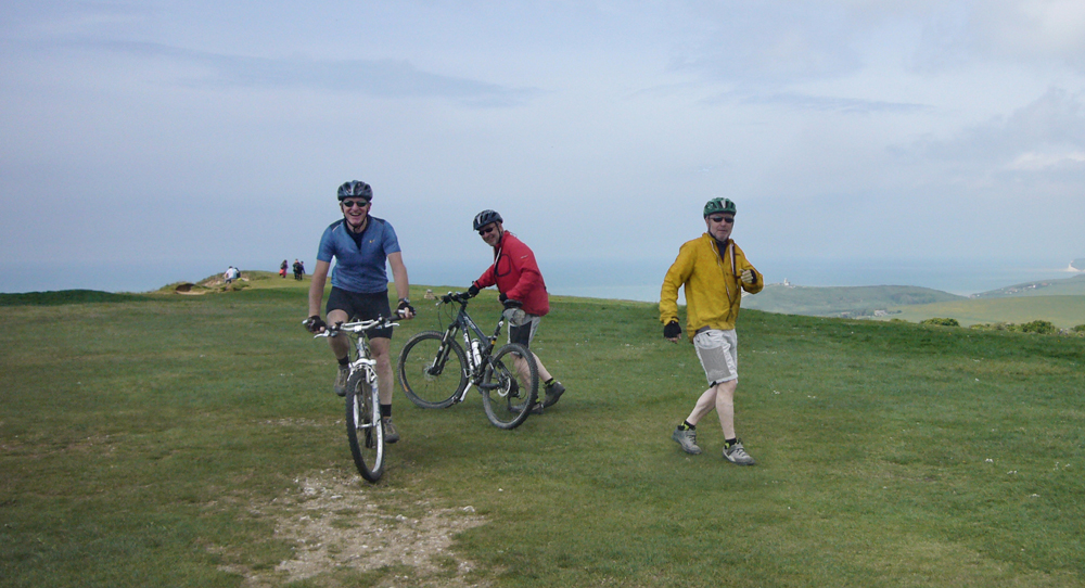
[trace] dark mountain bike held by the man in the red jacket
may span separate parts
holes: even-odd
[[[407,397],[422,408],[448,408],[462,402],[475,386],[482,393],[489,422],[500,429],[515,429],[527,419],[538,398],[535,356],[519,343],[502,345],[495,353],[506,315],[513,311],[502,312],[493,336],[488,336],[468,315],[470,298],[467,292],[449,292],[441,297],[438,306],[459,304],[459,310],[444,333],[423,331],[407,341],[399,354],[399,382]],[[462,347],[456,341],[457,332],[463,336]]]

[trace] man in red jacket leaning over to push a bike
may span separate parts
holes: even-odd
[[[550,311],[550,297],[539,266],[535,263],[535,254],[516,235],[506,231],[502,222],[501,215],[494,210],[483,210],[475,215],[474,230],[478,231],[487,245],[494,247],[494,264],[471,283],[468,294],[476,296],[480,290],[496,284],[501,293],[501,304],[507,310],[523,309],[522,318],[516,312],[509,320],[509,342],[529,347],[539,321]],[[534,351],[532,355],[538,367],[539,380],[546,384],[546,399],[531,407],[531,410],[534,414],[541,414],[544,407],[558,404],[558,399],[565,393],[565,386],[550,375]]]

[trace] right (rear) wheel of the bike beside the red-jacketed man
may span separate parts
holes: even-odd
[[[525,381],[512,363],[516,357],[527,361]],[[498,429],[515,429],[532,413],[539,393],[539,372],[535,356],[519,343],[509,343],[494,354],[483,374],[482,404],[486,418]],[[524,391],[527,391],[526,393]]]

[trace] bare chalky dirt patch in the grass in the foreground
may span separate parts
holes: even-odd
[[[452,537],[486,523],[471,506],[433,508],[425,500],[390,497],[357,475],[321,472],[257,509],[277,520],[276,536],[295,542],[294,558],[268,574],[247,571],[247,586],[321,576],[332,584],[344,570],[376,572],[376,585],[486,586],[476,565],[449,550]],[[472,579],[469,579],[472,578]]]

